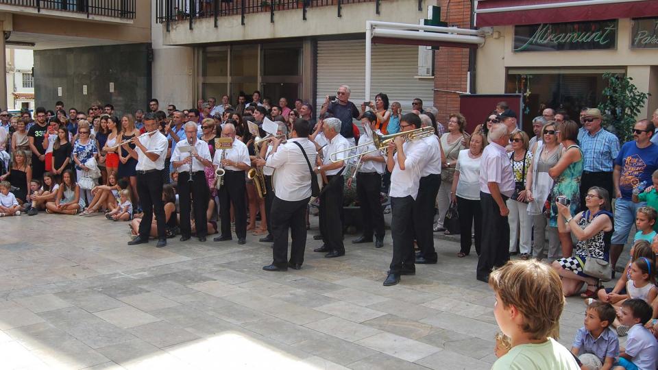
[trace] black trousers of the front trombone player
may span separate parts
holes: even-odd
[[[413,204],[411,195],[404,198],[391,197],[391,237],[393,238],[393,258],[391,273],[414,270],[413,254]],[[433,205],[433,203],[432,203]]]

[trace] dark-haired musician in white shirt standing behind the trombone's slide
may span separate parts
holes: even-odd
[[[377,116],[374,112],[367,111],[361,114],[361,123],[364,130],[358,138],[358,145],[363,145],[357,149],[357,153],[363,154],[357,160],[356,169],[356,196],[358,197],[361,217],[363,219],[363,234],[352,240],[353,244],[372,243],[373,229],[375,235],[375,247],[384,246],[384,209],[379,199],[382,188],[382,174],[384,173],[386,159],[382,153],[375,147],[373,136],[381,134],[375,129]],[[370,130],[367,130],[367,127]],[[369,145],[366,145],[369,144]],[[352,178],[348,179],[348,188],[352,186]]]

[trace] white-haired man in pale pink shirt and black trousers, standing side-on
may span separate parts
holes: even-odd
[[[480,207],[482,208],[482,246],[476,277],[489,282],[494,267],[509,260],[509,209],[505,201],[514,193],[514,175],[505,145],[509,131],[504,123],[494,123],[489,130],[489,145],[480,159]]]

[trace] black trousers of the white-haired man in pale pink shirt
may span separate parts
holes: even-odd
[[[502,200],[507,201],[507,197],[502,195]],[[501,267],[509,261],[509,223],[507,217],[500,215],[500,208],[491,194],[480,191],[480,206],[482,247],[476,273],[478,278],[488,280],[493,267]]]

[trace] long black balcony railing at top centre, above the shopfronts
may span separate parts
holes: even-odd
[[[190,29],[196,18],[215,18],[221,16],[242,16],[245,24],[245,14],[269,13],[270,21],[274,23],[274,13],[281,10],[302,9],[302,18],[306,21],[306,10],[322,6],[335,6],[337,16],[341,17],[342,5],[350,3],[372,3],[375,12],[379,14],[381,0],[156,0],[156,23],[165,23],[169,31],[169,23],[188,21]],[[419,10],[422,1],[418,0]]]

